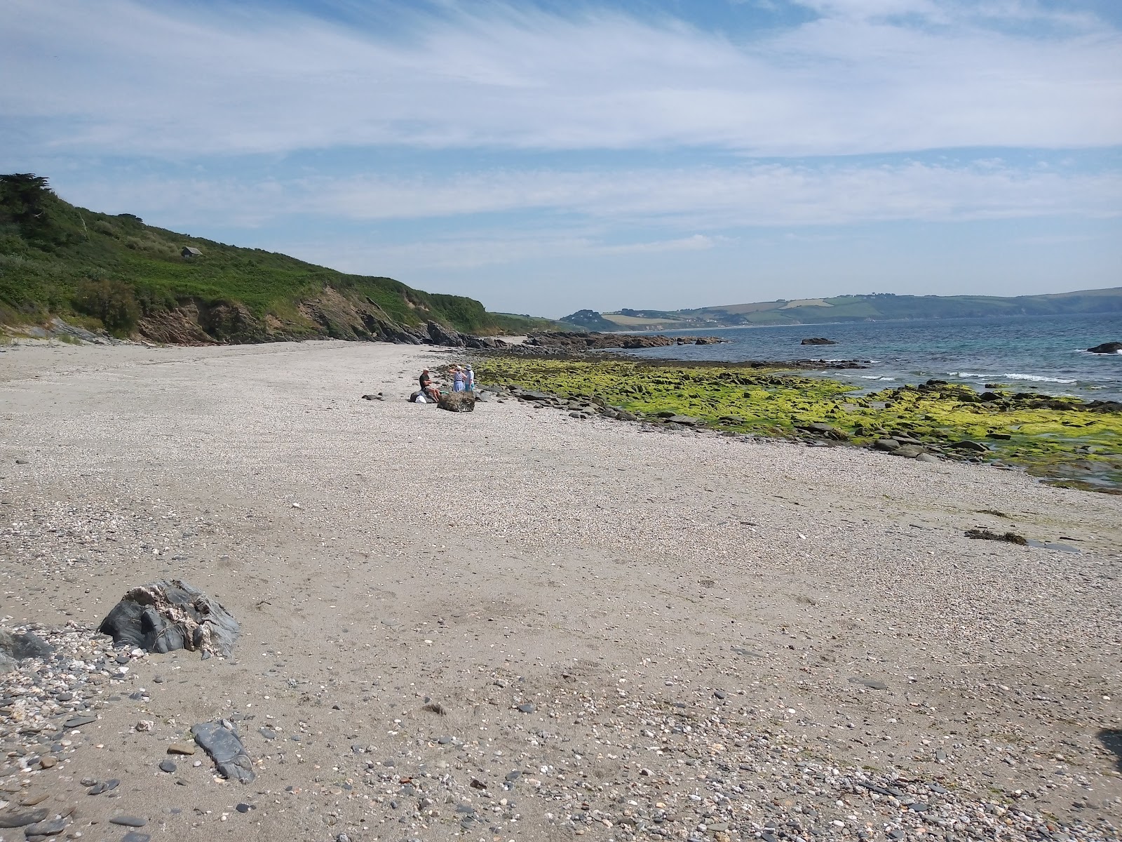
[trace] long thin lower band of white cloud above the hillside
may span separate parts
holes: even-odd
[[[985,158],[968,165],[744,164],[673,170],[489,171],[451,177],[357,175],[241,184],[219,181],[80,181],[67,199],[160,225],[265,225],[285,217],[441,220],[550,214],[619,229],[699,229],[879,221],[967,221],[1122,214],[1122,173],[1064,173]],[[491,225],[502,225],[493,222]]]

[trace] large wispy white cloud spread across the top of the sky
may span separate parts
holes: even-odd
[[[402,12],[405,34],[390,39],[268,7],[8,0],[0,127],[25,150],[181,158],[377,145],[785,156],[1122,143],[1122,36],[1093,18],[1042,38],[973,22],[1032,17],[1023,0],[804,4],[822,17],[734,42],[673,20],[506,6]]]

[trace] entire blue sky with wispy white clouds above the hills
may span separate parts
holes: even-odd
[[[470,295],[1122,285],[1118,0],[4,0],[0,172]]]

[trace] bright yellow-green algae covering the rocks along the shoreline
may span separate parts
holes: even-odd
[[[990,461],[1072,487],[1122,489],[1122,406],[930,381],[868,395],[821,377],[747,365],[486,356],[481,383],[600,401],[653,422],[816,438]],[[881,449],[890,449],[885,443]],[[916,454],[911,454],[916,455]],[[929,457],[925,457],[929,458]]]

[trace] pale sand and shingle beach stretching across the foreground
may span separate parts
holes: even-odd
[[[1120,823],[1119,759],[1096,734],[1122,727],[1122,497],[404,400],[423,364],[453,359],[344,342],[0,353],[3,625],[96,624],[174,575],[245,633],[231,660],[135,661],[75,738],[102,748],[6,780],[77,804],[67,831],[98,840],[123,835],[113,812],[159,840],[626,839],[635,821],[751,839],[792,811],[816,839],[923,823],[845,795],[845,767],[950,789],[926,839],[1006,820],[1017,839],[1045,812],[1087,838]],[[974,525],[1083,552],[964,538]],[[156,770],[191,724],[236,713],[252,784],[214,781],[205,759]],[[153,733],[130,733],[146,719]],[[794,780],[800,758],[826,778]],[[84,777],[120,778],[119,797],[84,795]],[[457,836],[468,803],[479,820]]]

